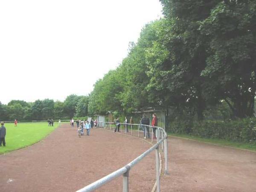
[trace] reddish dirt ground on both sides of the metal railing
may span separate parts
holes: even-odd
[[[99,128],[90,134],[79,138],[76,129],[64,124],[35,145],[1,154],[0,191],[73,192],[151,147],[136,137]],[[168,153],[169,175],[161,175],[161,192],[256,191],[255,152],[169,137]],[[152,152],[131,169],[130,192],[151,192],[154,155]],[[122,177],[97,191],[122,191]]]

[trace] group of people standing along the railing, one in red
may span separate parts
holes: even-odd
[[[125,116],[125,121],[124,121],[124,123],[125,123],[125,131],[126,131],[126,133],[127,133],[127,132],[128,132],[128,119],[126,118],[126,116]],[[133,124],[133,123],[134,123],[134,122],[133,122],[133,119],[132,119],[132,116],[131,116],[131,118],[130,118],[130,124]],[[143,132],[144,132],[144,139],[146,139],[147,136],[148,136],[148,138],[150,138],[149,127],[146,126],[146,125],[149,125],[149,123],[150,123],[149,118],[148,118],[148,117],[146,116],[146,114],[144,113],[143,116],[142,116],[142,118],[140,119],[140,124],[141,124],[141,126],[142,126],[142,128],[143,128]],[[115,128],[115,130],[114,130],[113,132],[114,132],[114,133],[115,133],[116,131],[117,131],[117,132],[120,132],[119,129],[120,129],[121,124],[120,124],[120,121],[119,121],[119,118],[118,118],[118,117],[114,120],[114,124],[116,125],[116,128]],[[153,114],[152,114],[151,126],[153,127],[152,129],[153,129],[153,133],[154,133],[153,139],[156,139],[156,138],[157,138],[157,137],[156,137],[156,128],[155,128],[155,127],[157,127],[157,115],[156,115],[156,113],[153,113]],[[132,125],[131,125],[131,128],[132,128]],[[146,130],[147,130],[147,135],[146,135]]]

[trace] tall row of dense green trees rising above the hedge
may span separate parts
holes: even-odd
[[[203,120],[254,116],[255,0],[160,0],[164,17],[148,23],[122,63],[99,79],[88,113],[148,107]]]

